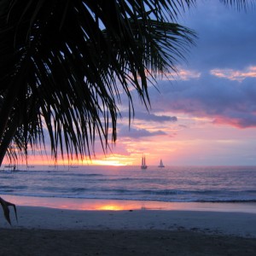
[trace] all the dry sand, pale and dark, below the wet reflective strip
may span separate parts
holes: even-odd
[[[0,255],[256,255],[256,214],[18,207]]]

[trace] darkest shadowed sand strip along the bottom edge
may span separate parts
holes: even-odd
[[[255,239],[181,230],[1,230],[1,255],[255,255]]]

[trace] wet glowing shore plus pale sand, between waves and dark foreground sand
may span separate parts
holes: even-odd
[[[256,203],[3,198],[15,203],[18,213],[16,223],[9,208],[12,226],[3,219],[6,229],[195,230],[256,238]]]

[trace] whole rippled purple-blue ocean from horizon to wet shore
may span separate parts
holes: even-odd
[[[256,166],[25,166],[2,170],[0,181],[2,196],[256,202]]]

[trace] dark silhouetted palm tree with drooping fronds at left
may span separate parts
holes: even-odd
[[[176,72],[195,32],[177,24],[195,0],[2,0],[0,166],[27,148],[82,157],[116,140],[120,94],[148,108],[148,83]],[[246,1],[222,1],[244,4]],[[9,202],[0,198],[9,218]]]

